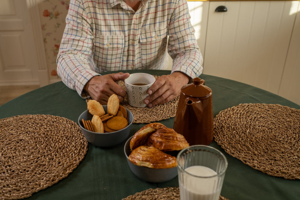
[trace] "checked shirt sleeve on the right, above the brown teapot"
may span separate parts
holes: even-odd
[[[191,78],[203,71],[203,57],[190,23],[186,0],[178,0],[169,24],[168,52],[173,59],[172,73],[181,71]]]

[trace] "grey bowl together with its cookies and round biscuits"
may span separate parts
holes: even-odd
[[[87,110],[78,118],[79,127],[85,139],[100,147],[115,146],[129,135],[133,114],[119,105],[117,95],[111,95],[107,105],[95,100],[87,101]]]

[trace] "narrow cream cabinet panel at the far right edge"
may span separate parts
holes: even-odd
[[[286,58],[279,95],[300,105],[300,5]]]

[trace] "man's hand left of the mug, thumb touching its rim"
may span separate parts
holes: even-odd
[[[116,94],[120,102],[124,101],[126,91],[116,82],[129,77],[129,73],[106,74],[92,77],[84,86],[84,89],[94,100],[102,105],[107,105],[108,98]]]

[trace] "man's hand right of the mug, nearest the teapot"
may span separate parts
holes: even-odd
[[[148,89],[149,96],[144,103],[152,107],[173,100],[180,95],[180,89],[189,82],[189,78],[179,71],[159,77]]]

